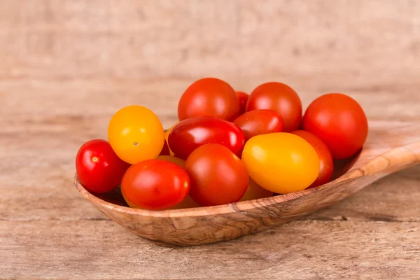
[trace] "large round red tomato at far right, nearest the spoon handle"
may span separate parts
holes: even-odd
[[[368,130],[362,107],[341,93],[322,95],[309,104],[303,128],[327,144],[335,160],[356,154],[365,144]]]

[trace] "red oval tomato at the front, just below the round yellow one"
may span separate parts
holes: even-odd
[[[127,204],[163,210],[181,203],[190,191],[190,177],[167,160],[145,160],[132,165],[123,176],[121,192]],[[129,204],[129,205],[130,205]]]

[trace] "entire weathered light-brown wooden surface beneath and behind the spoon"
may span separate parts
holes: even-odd
[[[0,278],[420,278],[420,166],[257,235],[167,248],[73,187],[123,106],[166,127],[197,78],[345,92],[420,121],[420,1],[0,1]]]

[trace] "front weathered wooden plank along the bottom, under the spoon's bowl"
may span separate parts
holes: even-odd
[[[0,221],[0,272],[5,278],[416,279],[419,230],[419,222],[297,221],[222,244],[166,248],[111,221]]]

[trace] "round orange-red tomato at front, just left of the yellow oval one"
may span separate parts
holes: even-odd
[[[202,206],[238,202],[249,182],[246,166],[228,148],[207,144],[186,161],[191,178],[190,196]]]

